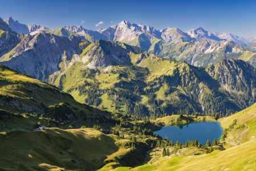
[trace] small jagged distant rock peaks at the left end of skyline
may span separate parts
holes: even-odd
[[[13,18],[9,17],[4,20],[7,25],[11,27],[11,29],[19,34],[30,34],[31,32],[40,31],[40,30],[48,30],[49,28],[40,26],[40,25],[24,25],[19,23],[18,21],[14,21]]]

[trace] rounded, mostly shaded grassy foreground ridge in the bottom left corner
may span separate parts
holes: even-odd
[[[0,170],[91,170],[119,151],[118,139],[88,128],[2,132]]]

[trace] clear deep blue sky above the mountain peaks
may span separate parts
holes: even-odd
[[[224,1],[224,0],[223,0]],[[97,30],[121,21],[158,30],[202,27],[210,32],[256,35],[256,1],[0,1],[0,17],[46,26],[79,26]],[[97,23],[102,23],[96,26]]]

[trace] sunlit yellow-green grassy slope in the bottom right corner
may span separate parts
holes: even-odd
[[[143,165],[131,170],[252,170],[256,162],[256,140],[224,151],[214,151],[201,156],[174,157],[163,159],[151,165]],[[129,170],[117,168],[115,170]]]

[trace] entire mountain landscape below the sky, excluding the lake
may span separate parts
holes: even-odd
[[[254,38],[0,18],[0,170],[253,170]],[[206,121],[221,139],[153,133]]]

